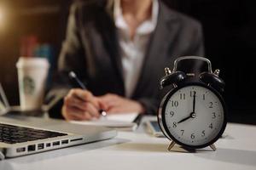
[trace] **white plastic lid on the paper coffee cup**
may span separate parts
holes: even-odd
[[[45,58],[39,58],[39,57],[20,57],[16,67],[22,68],[22,67],[46,67],[49,68],[49,62]]]

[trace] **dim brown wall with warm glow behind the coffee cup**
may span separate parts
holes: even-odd
[[[22,37],[33,35],[38,37],[39,42],[51,44],[56,59],[65,36],[70,3],[68,0],[0,2],[0,8],[4,9],[3,26],[0,29],[0,82],[11,105],[19,105],[15,63],[20,57]]]

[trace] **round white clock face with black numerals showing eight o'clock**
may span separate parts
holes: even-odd
[[[215,90],[190,85],[175,89],[166,99],[163,124],[168,136],[177,144],[206,147],[224,132],[224,102]]]

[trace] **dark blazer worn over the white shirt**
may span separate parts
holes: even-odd
[[[156,114],[164,68],[172,68],[179,56],[204,54],[200,23],[159,3],[157,26],[148,42],[143,70],[131,97],[143,104],[148,114]],[[48,98],[60,90],[65,94],[71,88],[65,80],[69,71],[75,71],[95,95],[125,95],[112,0],[74,3],[71,7],[58,63],[61,79],[55,79]],[[55,105],[49,115],[60,116],[61,105]]]

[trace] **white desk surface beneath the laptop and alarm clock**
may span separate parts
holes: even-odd
[[[74,169],[256,169],[256,126],[228,124],[217,150],[169,152],[169,141],[119,132],[114,139],[0,161],[0,170]],[[177,149],[177,147],[176,147]]]

